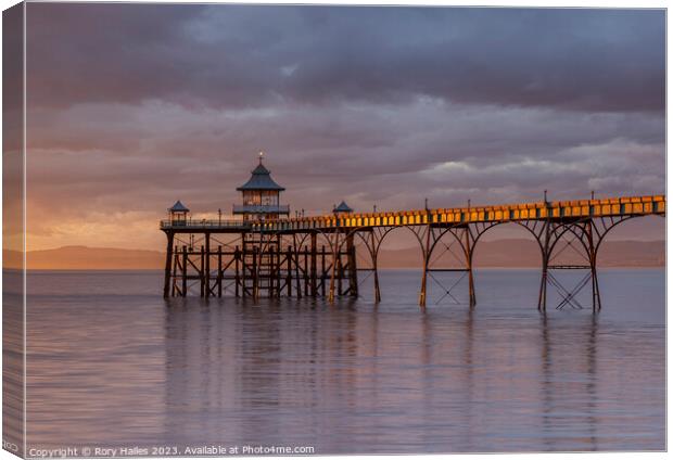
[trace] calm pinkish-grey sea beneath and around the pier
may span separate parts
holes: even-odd
[[[553,296],[541,315],[538,271],[495,269],[473,310],[464,280],[423,314],[419,279],[384,271],[377,307],[370,280],[356,302],[253,305],[165,302],[160,272],[33,272],[28,448],[665,448],[663,270],[600,271],[599,315]]]

